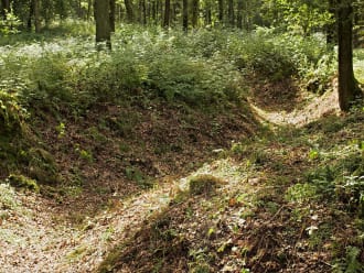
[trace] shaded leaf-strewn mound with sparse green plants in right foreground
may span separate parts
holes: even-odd
[[[99,272],[362,272],[363,119],[357,107],[234,143]]]

